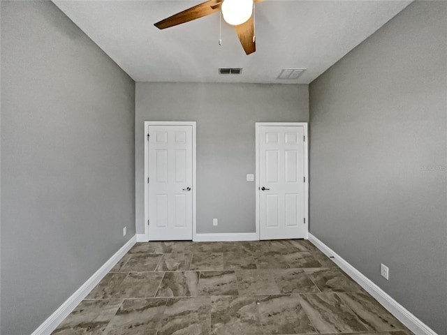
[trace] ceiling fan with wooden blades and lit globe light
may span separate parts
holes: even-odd
[[[245,53],[251,54],[256,51],[253,17],[254,3],[262,1],[264,0],[209,0],[183,10],[165,20],[156,22],[154,26],[158,29],[166,29],[217,13],[221,10],[223,20],[235,27],[236,34]]]

